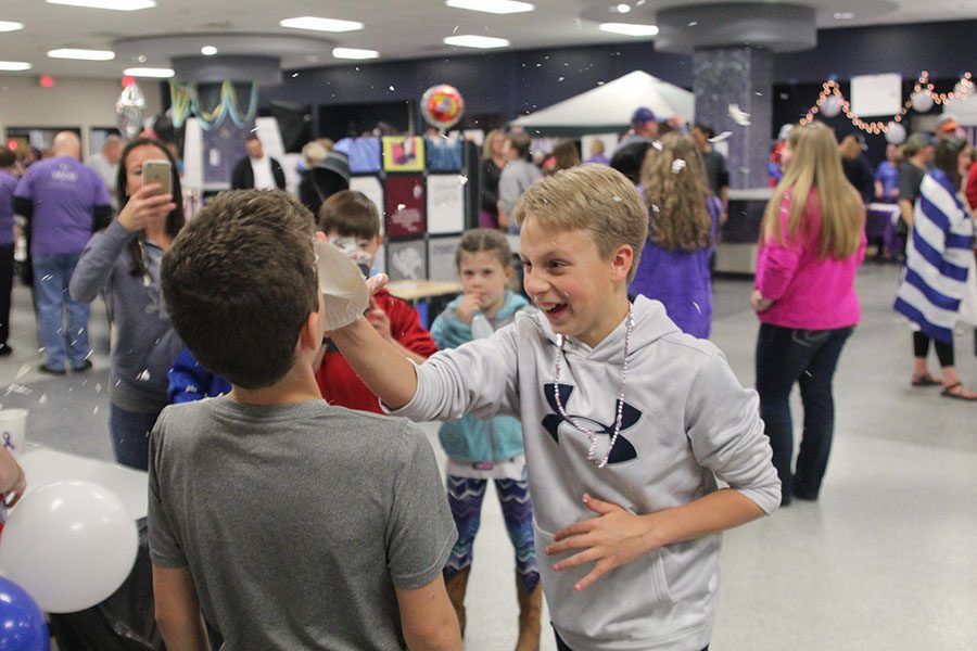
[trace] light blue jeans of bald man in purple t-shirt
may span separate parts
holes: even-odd
[[[67,359],[71,359],[72,368],[78,368],[91,355],[88,345],[89,306],[68,294],[68,283],[80,257],[80,252],[34,254],[38,330],[49,369],[64,370]]]

